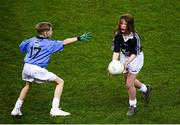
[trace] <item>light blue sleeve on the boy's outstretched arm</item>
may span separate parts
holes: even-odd
[[[52,42],[53,42],[53,44],[52,44],[52,46],[51,46],[51,52],[52,52],[52,53],[55,53],[55,52],[63,51],[63,50],[64,50],[63,41],[53,40]]]

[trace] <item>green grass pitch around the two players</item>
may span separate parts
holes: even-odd
[[[146,105],[137,92],[138,113],[127,117],[128,97],[121,75],[109,78],[113,30],[130,13],[142,36],[145,64],[138,78],[152,85]],[[180,1],[179,0],[1,0],[0,1],[0,123],[1,124],[180,124]],[[50,117],[53,84],[34,84],[14,118],[24,82],[24,54],[18,46],[36,35],[34,25],[49,21],[53,39],[84,32],[90,42],[77,42],[52,55],[48,70],[64,79],[61,107],[68,117]]]

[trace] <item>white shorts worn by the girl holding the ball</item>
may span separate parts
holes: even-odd
[[[125,63],[127,60],[128,56],[125,56],[124,54],[121,53],[120,55],[120,62]],[[137,55],[132,62],[130,62],[127,66],[127,72],[130,72],[132,74],[138,74],[141,68],[144,65],[144,54],[143,52],[140,52],[139,55]]]

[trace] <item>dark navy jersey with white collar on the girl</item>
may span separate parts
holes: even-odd
[[[120,51],[126,56],[131,54],[139,55],[142,51],[140,37],[137,33],[131,33],[127,38],[120,33],[116,33],[113,39],[114,52]]]

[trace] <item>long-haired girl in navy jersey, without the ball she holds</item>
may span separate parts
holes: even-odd
[[[137,74],[144,64],[140,37],[134,29],[134,19],[130,14],[122,15],[114,35],[114,52],[112,60],[118,60],[124,64],[124,79],[129,96],[128,116],[137,112],[136,88],[143,92],[146,102],[149,101],[151,87],[141,83]]]

